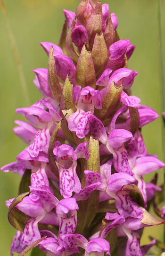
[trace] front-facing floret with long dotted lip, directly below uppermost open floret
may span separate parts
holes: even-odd
[[[73,191],[79,193],[81,190],[81,183],[76,173],[76,160],[78,158],[89,158],[89,153],[86,148],[87,143],[81,143],[74,151],[71,146],[66,144],[60,145],[59,142],[55,144],[53,153],[57,156],[59,169],[59,189],[64,198],[72,196]]]

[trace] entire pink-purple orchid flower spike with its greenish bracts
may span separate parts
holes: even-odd
[[[13,130],[27,147],[1,168],[22,176],[20,195],[6,203],[17,229],[11,255],[40,245],[47,256],[145,256],[155,240],[140,247],[142,228],[163,221],[148,213],[161,188],[143,175],[165,164],[140,133],[158,115],[131,96],[135,46],[119,39],[108,4],[82,0],[63,11],[59,44],[40,43],[48,69],[33,70],[43,98],[16,109],[28,122]]]

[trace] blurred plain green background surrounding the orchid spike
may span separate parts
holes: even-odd
[[[48,57],[39,42],[58,44],[65,20],[62,9],[75,11],[79,0],[4,0],[8,19],[22,62],[25,80],[30,95],[30,104],[41,94],[33,85],[36,68],[47,68]],[[157,23],[155,0],[107,0],[111,12],[118,17],[120,39],[131,39],[136,48],[128,62],[128,67],[139,71],[132,86],[132,95],[140,97],[141,104],[156,109],[161,115],[159,70],[157,51]],[[162,1],[162,31],[165,31],[165,1]],[[165,49],[165,34],[164,49]],[[24,107],[20,80],[16,70],[5,19],[0,10],[0,166],[15,161],[25,148],[25,143],[14,135],[12,128],[15,108]],[[157,154],[162,160],[161,128],[159,117],[142,129],[148,153]],[[146,175],[146,181],[153,176]],[[15,234],[7,219],[5,200],[16,197],[20,178],[18,175],[0,171],[0,253],[10,255],[10,244]],[[158,184],[163,182],[163,172],[159,170]],[[148,234],[163,238],[163,226],[147,228],[141,244],[147,243]]]

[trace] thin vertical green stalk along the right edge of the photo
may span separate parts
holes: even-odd
[[[158,41],[158,57],[159,57],[161,112],[165,112],[165,70],[164,70],[162,29],[161,29],[160,0],[156,0],[156,9],[157,9],[157,41]],[[163,116],[162,116],[161,126],[162,126],[162,155],[163,155],[163,162],[165,162],[165,120]],[[165,167],[164,167],[164,184],[165,184]],[[165,201],[165,194],[164,194],[164,201]],[[164,225],[164,243],[165,243],[165,225]]]

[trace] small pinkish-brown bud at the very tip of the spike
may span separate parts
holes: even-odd
[[[89,3],[89,0],[81,1],[75,11],[76,17],[80,25],[86,26],[87,20],[91,16],[93,9],[94,8],[92,7],[91,3]]]

